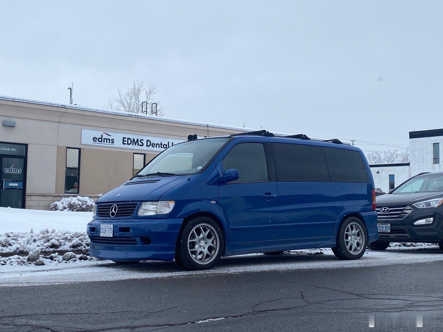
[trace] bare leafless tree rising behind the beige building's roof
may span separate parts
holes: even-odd
[[[154,99],[157,92],[158,88],[155,84],[146,88],[143,81],[134,81],[132,86],[125,91],[118,89],[118,97],[114,99],[109,97],[103,108],[128,113],[141,113],[141,103],[147,101],[148,114],[151,112],[152,103],[157,103],[157,116],[163,116],[163,106],[160,106],[159,100]]]

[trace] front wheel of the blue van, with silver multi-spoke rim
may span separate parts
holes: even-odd
[[[208,270],[221,258],[224,238],[218,224],[197,217],[183,228],[175,251],[175,262],[187,270]]]

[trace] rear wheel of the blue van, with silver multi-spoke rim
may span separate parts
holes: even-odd
[[[359,259],[366,251],[366,228],[360,219],[349,217],[343,221],[332,252],[339,259]]]

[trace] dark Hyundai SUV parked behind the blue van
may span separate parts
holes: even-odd
[[[416,175],[376,202],[379,236],[370,249],[384,250],[390,242],[426,242],[443,250],[443,172]]]

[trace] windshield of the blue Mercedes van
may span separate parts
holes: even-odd
[[[167,175],[190,175],[200,172],[229,140],[228,137],[198,139],[169,147],[137,175],[168,173]]]

